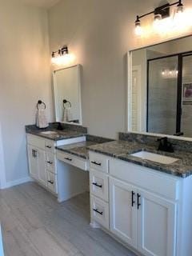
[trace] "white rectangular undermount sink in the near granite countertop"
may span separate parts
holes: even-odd
[[[137,153],[130,154],[130,155],[136,158],[142,158],[142,159],[150,160],[153,162],[159,162],[166,165],[169,165],[179,160],[178,158],[166,157],[165,155],[162,155],[162,154],[155,154],[147,151],[139,151]]]

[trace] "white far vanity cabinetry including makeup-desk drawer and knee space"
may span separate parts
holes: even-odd
[[[85,137],[55,142],[26,134],[30,177],[63,202],[89,190],[86,159],[56,150],[56,146],[83,142]],[[59,161],[58,161],[59,160]]]

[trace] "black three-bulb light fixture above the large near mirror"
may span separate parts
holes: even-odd
[[[141,18],[144,18],[150,14],[154,14],[154,28],[158,29],[158,25],[164,18],[170,17],[170,6],[176,6],[176,13],[175,14],[182,14],[183,12],[183,4],[182,0],[179,0],[178,2],[174,2],[172,4],[166,3],[163,6],[159,6],[158,8],[155,8],[154,10],[150,11],[147,14],[142,14],[141,16],[137,16],[135,23],[135,34],[142,35],[142,25],[141,25]]]

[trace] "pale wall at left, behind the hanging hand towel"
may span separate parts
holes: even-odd
[[[38,98],[52,121],[46,10],[1,0],[0,31],[0,143],[11,186],[28,177],[25,125],[34,123]]]

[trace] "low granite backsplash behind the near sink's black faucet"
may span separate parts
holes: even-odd
[[[158,138],[165,136],[154,136],[148,134],[134,134],[134,133],[119,133],[118,138],[122,141],[127,142],[138,142],[142,144],[147,144],[150,146],[156,146],[158,148]],[[173,144],[174,150],[182,150],[186,152],[192,152],[192,142],[185,141],[182,139],[168,138],[169,142]]]

